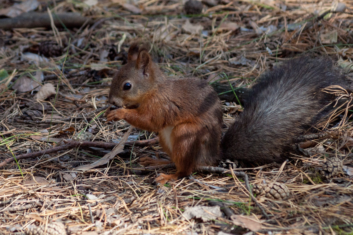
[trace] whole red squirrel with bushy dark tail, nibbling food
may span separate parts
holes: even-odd
[[[174,162],[175,174],[161,173],[155,179],[165,184],[220,158],[281,162],[296,138],[330,109],[334,95],[324,88],[344,84],[345,76],[329,58],[285,61],[259,77],[244,111],[221,140],[223,113],[214,89],[198,78],[165,76],[146,45],[135,42],[127,63],[113,77],[108,101],[119,108],[108,113],[107,121],[124,119],[158,132],[170,161],[143,157],[140,164]]]

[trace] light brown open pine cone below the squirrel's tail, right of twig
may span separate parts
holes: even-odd
[[[288,187],[285,184],[274,182],[266,185],[254,185],[252,189],[256,196],[262,196],[272,199],[285,199],[291,195]]]

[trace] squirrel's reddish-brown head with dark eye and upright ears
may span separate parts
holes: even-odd
[[[127,63],[115,74],[109,103],[118,107],[136,106],[155,84],[155,68],[146,45],[131,44]]]

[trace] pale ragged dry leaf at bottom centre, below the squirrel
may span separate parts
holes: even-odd
[[[222,216],[220,206],[193,206],[186,207],[183,216],[186,219],[200,218],[207,222]]]

